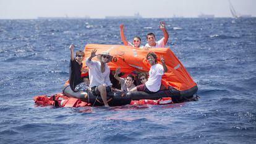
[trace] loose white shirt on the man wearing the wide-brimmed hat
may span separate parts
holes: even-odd
[[[90,87],[98,85],[111,86],[112,83],[109,79],[110,70],[108,64],[105,64],[105,72],[101,72],[99,61],[89,61],[89,58],[86,59],[86,66],[89,67],[89,78],[90,78]]]

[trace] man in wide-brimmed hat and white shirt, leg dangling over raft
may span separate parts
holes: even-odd
[[[94,49],[86,60],[86,65],[89,67],[90,88],[92,88],[93,95],[101,95],[103,103],[108,106],[106,95],[108,91],[111,91],[112,83],[109,79],[110,70],[107,63],[113,56],[110,56],[108,52],[96,55],[96,51]],[[95,56],[99,61],[92,61]]]

